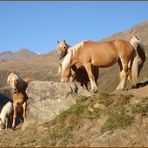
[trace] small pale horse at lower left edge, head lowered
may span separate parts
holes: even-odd
[[[0,113],[0,130],[8,128],[8,120],[12,117],[13,114],[13,105],[12,102],[7,102],[1,110]]]

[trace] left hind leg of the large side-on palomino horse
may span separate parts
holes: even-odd
[[[120,83],[116,90],[123,90],[126,85],[126,80],[128,76],[128,62],[124,59],[121,59],[119,63],[120,66]]]

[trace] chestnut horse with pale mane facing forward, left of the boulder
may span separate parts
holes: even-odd
[[[7,78],[7,83],[11,86],[12,100],[13,100],[13,122],[12,128],[16,126],[16,117],[18,116],[18,110],[23,109],[23,119],[26,119],[27,100],[26,88],[31,79],[21,79],[16,73],[10,73]]]

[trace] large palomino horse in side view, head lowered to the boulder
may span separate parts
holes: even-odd
[[[129,69],[134,74],[135,68],[133,66],[133,60],[135,60],[137,50],[126,40],[115,39],[104,42],[94,41],[82,41],[69,48],[67,55],[61,63],[61,81],[67,81],[70,76],[70,69],[74,64],[80,64],[84,66],[90,83],[91,91],[97,91],[97,85],[92,73],[92,66],[95,67],[110,67],[115,63],[119,64],[120,67],[120,83],[117,90],[125,88],[126,80]],[[128,66],[131,63],[130,67]],[[133,82],[132,82],[133,83]]]

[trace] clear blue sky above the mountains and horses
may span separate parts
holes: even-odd
[[[100,40],[148,20],[148,2],[0,2],[0,52],[47,53],[57,40]]]

